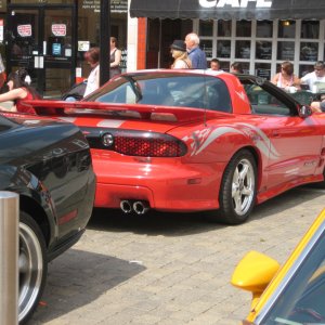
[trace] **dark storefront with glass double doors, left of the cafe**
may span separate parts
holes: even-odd
[[[60,98],[90,73],[83,54],[101,43],[100,13],[100,0],[0,0],[0,52],[6,73],[25,67],[44,98]],[[125,65],[128,0],[110,0],[107,20]]]

